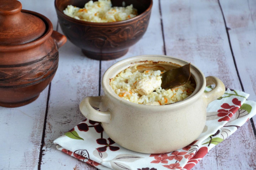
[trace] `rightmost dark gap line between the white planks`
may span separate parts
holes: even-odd
[[[233,57],[234,65],[235,65],[235,68],[236,68],[236,73],[237,73],[237,76],[238,76],[238,79],[239,79],[242,91],[244,92],[244,86],[243,86],[243,83],[242,83],[242,80],[241,80],[241,77],[240,77],[240,74],[239,74],[239,71],[238,71],[238,68],[237,68],[237,65],[236,65],[236,59],[235,59],[235,56],[234,56],[234,52],[233,52],[233,49],[232,49],[232,45],[231,45],[231,41],[230,41],[230,36],[229,36],[229,32],[228,32],[230,30],[230,28],[227,27],[225,16],[224,16],[224,12],[223,12],[222,7],[220,5],[220,0],[218,0],[218,4],[220,6],[220,11],[222,13],[222,17],[223,17],[224,24],[225,24],[225,27],[226,27],[226,33],[227,33],[227,36],[228,36],[228,43],[229,43],[230,51],[231,51],[231,54],[232,54],[232,57]],[[254,122],[253,122],[252,118],[250,119],[250,122],[251,122],[251,126],[252,126],[252,129],[253,129],[254,136],[256,138],[256,128],[255,128],[255,126],[253,124]]]

